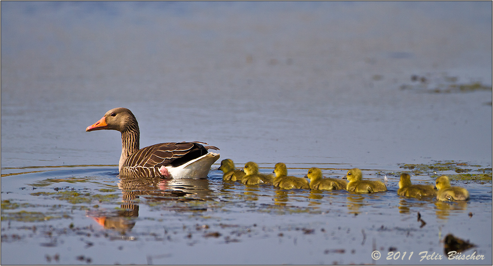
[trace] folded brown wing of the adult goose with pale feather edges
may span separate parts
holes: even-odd
[[[123,167],[159,168],[163,165],[171,165],[174,162],[182,164],[182,161],[185,163],[188,160],[207,154],[207,148],[209,147],[204,147],[197,142],[167,142],[154,144],[141,148],[130,155],[123,164]]]

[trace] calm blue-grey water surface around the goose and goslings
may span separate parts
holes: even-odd
[[[491,264],[491,10],[2,1],[1,264],[421,264],[448,233],[485,260],[426,264]],[[207,180],[128,180],[119,133],[84,132],[120,106],[141,147],[205,141],[299,177],[359,167],[389,192],[246,187],[218,164]],[[468,202],[396,195],[404,164],[451,161],[490,176],[452,182]],[[440,174],[457,172],[412,179]]]

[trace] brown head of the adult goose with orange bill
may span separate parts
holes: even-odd
[[[116,130],[124,132],[129,128],[137,128],[138,124],[132,112],[126,108],[115,108],[106,114],[96,123],[86,128],[86,131],[95,130]]]

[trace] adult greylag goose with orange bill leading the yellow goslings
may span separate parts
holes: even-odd
[[[86,131],[116,130],[122,133],[120,175],[134,177],[206,178],[211,165],[219,159],[218,150],[204,142],[166,142],[139,149],[139,126],[126,108],[115,108]]]

